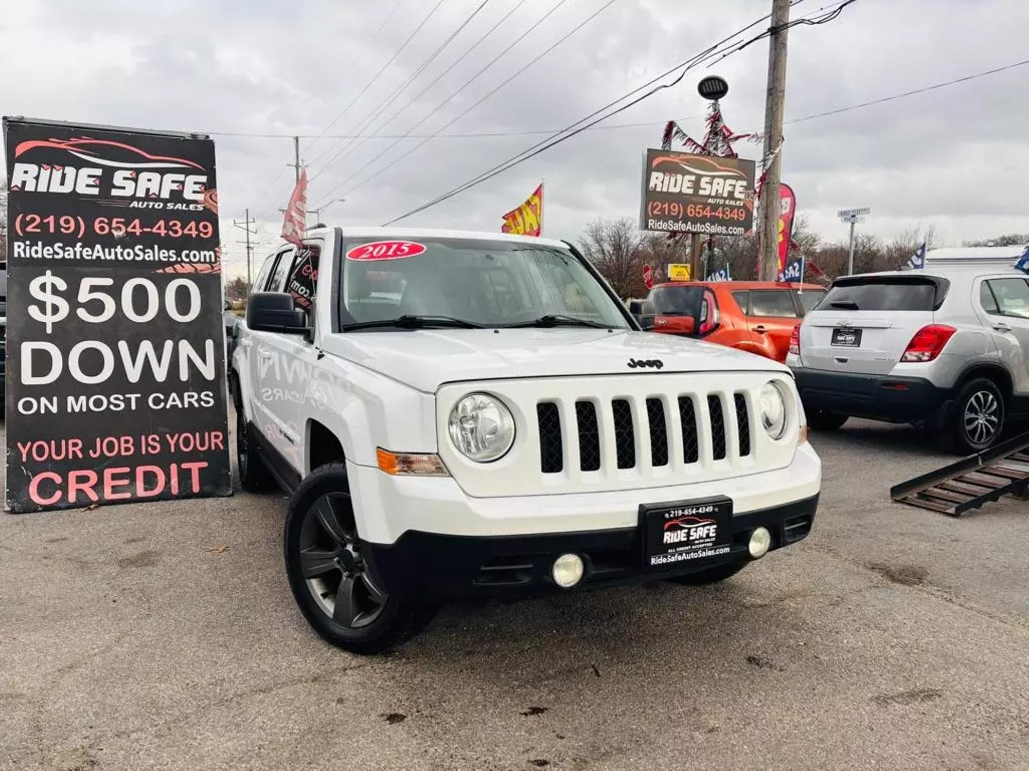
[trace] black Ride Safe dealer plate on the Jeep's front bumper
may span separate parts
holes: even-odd
[[[645,564],[653,570],[685,566],[729,556],[733,502],[718,497],[640,507]]]

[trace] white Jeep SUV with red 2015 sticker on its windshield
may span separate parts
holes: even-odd
[[[290,492],[289,582],[330,642],[386,650],[453,598],[719,581],[811,528],[789,370],[639,331],[568,244],[318,228],[255,290],[240,477]]]

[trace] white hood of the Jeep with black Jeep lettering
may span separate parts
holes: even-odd
[[[426,393],[445,382],[512,377],[788,372],[771,359],[684,337],[568,327],[353,331],[328,335],[323,348]],[[662,366],[630,367],[631,360]]]

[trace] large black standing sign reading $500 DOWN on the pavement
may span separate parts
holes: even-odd
[[[230,492],[214,144],[4,118],[7,508]]]

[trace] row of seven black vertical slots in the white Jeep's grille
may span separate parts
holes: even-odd
[[[750,454],[750,419],[747,411],[747,395],[733,394],[733,404],[736,414],[736,454],[745,457]],[[729,435],[722,401],[728,395],[708,394],[701,403],[707,406],[707,425],[710,427],[707,437],[707,447],[712,461],[724,461],[729,452]],[[677,414],[681,432],[681,445],[673,446],[669,434],[668,410],[666,403]],[[619,470],[636,469],[638,467],[637,450],[645,451],[651,469],[660,469],[669,465],[670,458],[676,457],[682,464],[696,464],[700,461],[702,424],[698,421],[695,397],[679,396],[674,401],[666,402],[662,397],[647,397],[643,400],[644,409],[637,409],[635,399],[612,399],[609,410],[605,412],[608,423],[604,430],[613,439],[614,467]],[[567,427],[562,425],[561,409],[556,402],[539,402],[536,405],[536,415],[539,421],[539,470],[544,474],[559,474],[564,470],[565,442]],[[640,421],[645,420],[649,446],[638,448]],[[602,430],[597,415],[597,406],[593,401],[577,400],[575,402],[576,439],[578,443],[578,468],[581,471],[599,471],[604,465],[601,450]]]

